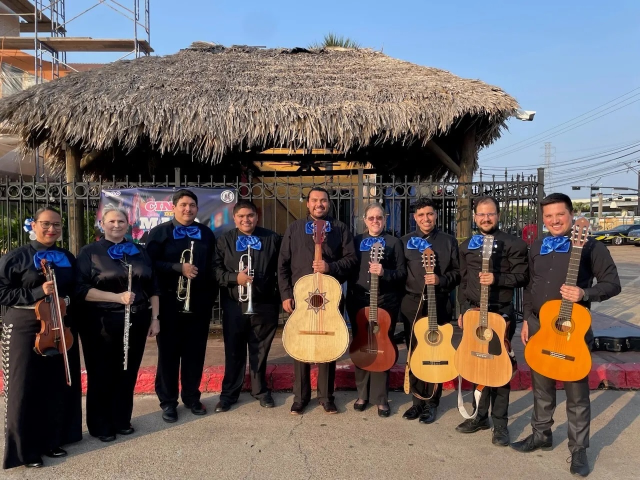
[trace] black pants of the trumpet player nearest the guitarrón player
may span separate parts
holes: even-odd
[[[278,328],[278,306],[253,304],[253,315],[243,315],[236,300],[222,301],[222,335],[225,340],[225,376],[220,400],[236,403],[244,383],[247,349],[251,394],[260,399],[267,387],[267,357]]]

